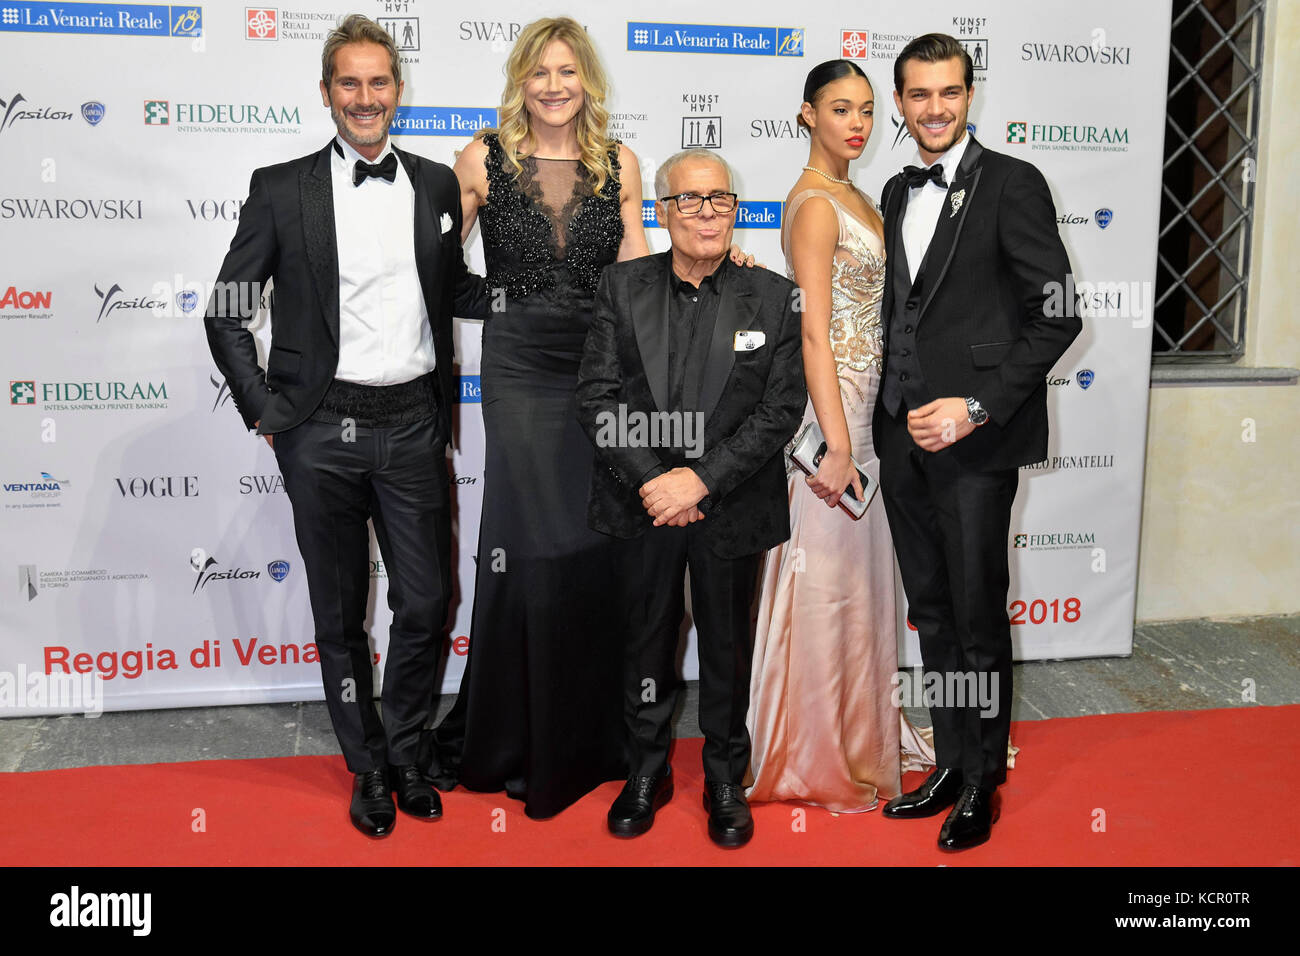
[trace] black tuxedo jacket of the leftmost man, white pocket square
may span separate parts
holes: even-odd
[[[330,140],[324,150],[257,169],[239,228],[217,276],[204,324],[217,368],[244,424],[260,434],[283,432],[304,421],[320,405],[338,369],[338,245]],[[437,360],[443,434],[451,436],[451,317],[485,319],[484,280],[465,267],[460,248],[460,187],[441,163],[398,150],[415,187],[415,256]],[[443,216],[450,226],[443,228]],[[270,302],[270,352],[266,371],[248,321],[256,297],[235,284],[274,281]]]

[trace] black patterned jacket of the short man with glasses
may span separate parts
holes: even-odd
[[[641,505],[649,476],[681,463],[680,450],[601,441],[601,412],[668,407],[672,254],[606,267],[578,371],[578,420],[595,444],[588,519],[595,531],[636,537],[653,525]],[[736,351],[736,333],[766,342]],[[794,285],[767,269],[731,268],[699,386],[703,455],[686,459],[708,486],[701,533],[720,558],[755,554],[790,536],[785,444],[803,416],[803,358]],[[675,458],[675,454],[677,455]]]

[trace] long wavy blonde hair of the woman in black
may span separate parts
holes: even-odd
[[[528,144],[532,135],[530,117],[524,105],[524,83],[532,77],[537,64],[542,61],[546,47],[554,40],[567,43],[577,61],[577,77],[582,83],[582,109],[577,114],[575,131],[582,165],[592,178],[592,190],[599,194],[604,183],[615,178],[614,164],[610,160],[610,147],[614,146],[608,135],[610,111],[604,108],[610,83],[586,30],[571,17],[546,17],[533,21],[520,31],[515,48],[506,60],[506,90],[502,92],[498,117],[500,127],[480,130],[477,135],[497,133],[506,163],[514,169],[515,176],[523,172],[519,151]]]

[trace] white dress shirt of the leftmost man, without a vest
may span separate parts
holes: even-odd
[[[342,138],[330,150],[338,245],[338,371],[358,385],[399,385],[434,368],[433,333],[415,265],[415,187],[398,161],[393,182],[352,185],[364,157]],[[385,143],[376,157],[393,152]]]

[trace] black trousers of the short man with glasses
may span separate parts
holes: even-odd
[[[742,783],[749,767],[750,605],[760,554],[719,558],[708,546],[706,518],[685,528],[650,528],[641,538],[644,606],[632,615],[624,669],[624,717],[630,775],[668,766],[677,704],[677,636],[685,615],[684,581],[699,635],[699,730],[705,734],[705,779]]]

